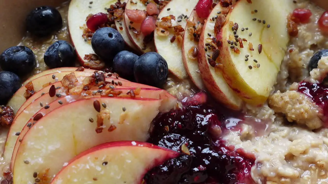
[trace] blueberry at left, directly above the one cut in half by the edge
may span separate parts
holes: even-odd
[[[33,51],[26,46],[13,46],[0,55],[0,66],[19,76],[30,73],[36,65]]]

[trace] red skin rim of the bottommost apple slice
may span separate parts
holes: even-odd
[[[92,156],[92,153],[97,152],[97,151],[102,151],[103,149],[108,149],[108,153],[110,153],[110,149],[126,149],[129,147],[143,147],[143,148],[150,148],[150,149],[160,149],[165,151],[165,156],[161,157],[160,159],[156,159],[154,160],[153,164],[151,166],[149,166],[148,168],[145,169],[144,174],[145,175],[149,170],[151,170],[152,168],[159,166],[161,164],[163,164],[165,161],[172,159],[172,158],[176,158],[178,156],[181,156],[181,153],[175,152],[173,150],[170,149],[166,149],[166,148],[162,148],[159,146],[156,146],[154,144],[150,144],[147,142],[139,142],[139,141],[115,141],[115,142],[108,142],[108,143],[104,143],[104,144],[100,144],[98,146],[95,146],[93,148],[90,148],[82,153],[80,153],[79,155],[75,156],[69,163],[67,166],[63,167],[58,174],[52,179],[51,184],[56,183],[56,180],[65,177],[65,168],[69,167],[70,164],[74,164],[74,162],[78,161],[80,158],[84,157],[84,156]],[[150,150],[151,151],[151,150]],[[62,176],[63,175],[63,176]],[[136,183],[142,183],[142,178],[141,177],[141,181],[136,181]]]

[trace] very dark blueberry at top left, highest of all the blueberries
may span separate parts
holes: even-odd
[[[52,7],[36,8],[26,18],[27,30],[38,37],[48,36],[62,26],[63,20],[59,11]]]

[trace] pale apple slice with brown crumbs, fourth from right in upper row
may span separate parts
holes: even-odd
[[[196,6],[198,0],[172,0],[169,2],[159,13],[157,18],[157,25],[163,17],[170,15],[175,16],[175,20],[171,20],[172,27],[181,25],[182,29],[186,27],[187,21],[184,18],[186,15],[190,15]],[[182,16],[182,14],[184,16]],[[181,18],[182,17],[182,18]],[[174,28],[168,28],[168,35],[163,35],[161,32],[163,29],[158,27],[154,31],[154,42],[156,46],[156,51],[163,56],[166,60],[169,70],[179,79],[185,79],[188,75],[184,68],[182,61],[182,44],[183,38],[181,35],[177,36],[174,34]],[[181,39],[176,38],[173,43],[171,43],[171,38],[173,36],[181,37]]]

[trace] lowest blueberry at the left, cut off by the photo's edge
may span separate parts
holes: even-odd
[[[0,72],[0,104],[5,104],[22,86],[19,77],[9,71]]]

